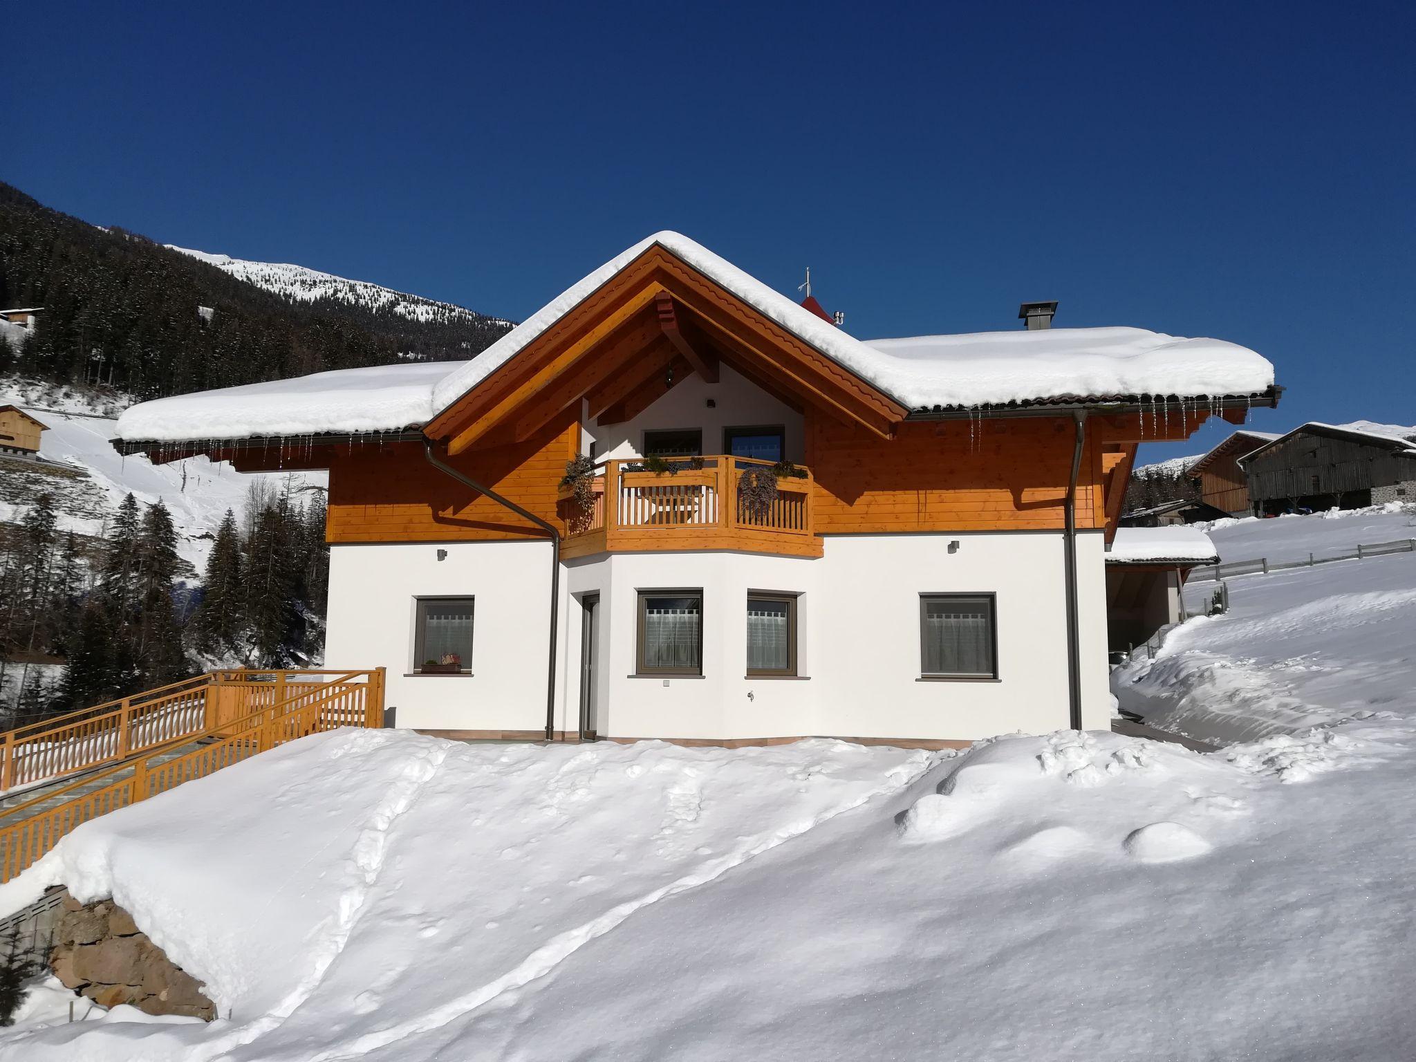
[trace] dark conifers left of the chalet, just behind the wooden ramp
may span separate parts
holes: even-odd
[[[129,494],[96,538],[58,524],[48,494],[0,524],[0,728],[210,667],[300,666],[323,650],[323,491],[302,501],[289,486],[252,484],[245,518],[228,510],[217,530],[198,588],[181,578],[160,500]],[[61,663],[62,678],[47,683]]]

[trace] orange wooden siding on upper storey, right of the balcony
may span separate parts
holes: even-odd
[[[1037,531],[1063,527],[1069,418],[903,423],[878,439],[807,416],[818,534]],[[1103,436],[1087,433],[1078,527],[1106,525]]]

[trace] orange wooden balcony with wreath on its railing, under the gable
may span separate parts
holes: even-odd
[[[607,460],[592,480],[589,508],[576,503],[572,487],[561,489],[559,515],[566,528],[561,555],[745,549],[820,556],[811,473],[799,466],[796,476],[776,476],[776,500],[759,508],[738,490],[749,470],[773,474],[773,464],[750,457],[675,457],[667,472],[649,472],[640,460]]]

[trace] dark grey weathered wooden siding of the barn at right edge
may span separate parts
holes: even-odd
[[[1416,457],[1379,445],[1303,432],[1245,463],[1255,504],[1337,497],[1416,480]]]

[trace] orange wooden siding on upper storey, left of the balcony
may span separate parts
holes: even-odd
[[[558,418],[524,443],[479,449],[447,460],[459,472],[544,520],[556,520],[565,463],[579,425]],[[473,496],[438,472],[416,443],[330,456],[330,542],[467,542],[541,538],[544,532],[491,498]]]

